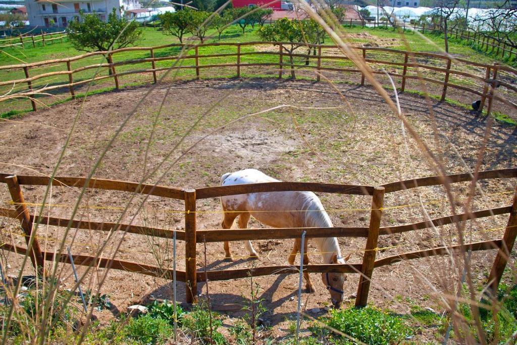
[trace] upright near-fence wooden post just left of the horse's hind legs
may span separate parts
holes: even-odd
[[[187,303],[197,303],[195,189],[185,190],[185,284]]]

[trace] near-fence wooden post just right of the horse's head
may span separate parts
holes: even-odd
[[[384,187],[375,187],[373,190],[372,211],[370,214],[368,238],[366,240],[366,249],[364,250],[364,256],[362,259],[359,287],[357,289],[355,303],[356,307],[364,307],[368,302],[368,292],[370,290],[370,280],[372,278],[373,265],[375,264],[375,254],[379,236],[379,227],[381,226],[383,203]]]

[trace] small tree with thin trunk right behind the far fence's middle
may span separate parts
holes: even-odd
[[[290,47],[286,47],[285,45],[282,47],[287,53],[289,53],[292,79],[296,78],[293,51],[304,46],[305,43],[303,42],[305,40],[307,40],[307,42],[310,41],[309,35],[311,35],[312,38],[312,33],[314,32],[313,29],[310,28],[311,25],[312,24],[308,20],[289,20],[287,18],[282,18],[271,25],[264,25],[258,29],[258,36],[265,41],[287,41],[291,43]]]

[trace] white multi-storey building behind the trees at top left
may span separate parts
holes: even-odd
[[[79,11],[95,12],[105,21],[113,8],[132,10],[140,8],[140,3],[138,0],[25,0],[25,6],[31,26],[66,27],[71,20],[79,18]]]

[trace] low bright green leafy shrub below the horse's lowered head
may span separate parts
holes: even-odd
[[[321,321],[367,344],[398,344],[412,334],[402,318],[374,307],[332,310],[330,316]],[[341,336],[336,340],[351,343]]]

